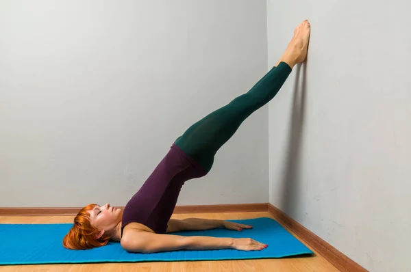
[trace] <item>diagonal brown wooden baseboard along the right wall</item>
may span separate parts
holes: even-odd
[[[305,241],[314,251],[318,252],[323,256],[328,262],[334,265],[338,270],[343,272],[364,272],[367,271],[360,264],[354,262],[343,253],[335,249],[332,245],[325,242],[316,234],[310,232],[307,228],[302,226],[300,223],[286,215],[272,204],[267,205],[267,210],[278,223],[282,224],[294,232],[299,238]]]

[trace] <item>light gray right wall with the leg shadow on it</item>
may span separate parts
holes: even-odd
[[[370,271],[411,271],[410,8],[268,1],[270,66],[312,25],[269,105],[270,202]]]

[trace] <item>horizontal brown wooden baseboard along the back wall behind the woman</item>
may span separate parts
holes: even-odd
[[[124,207],[119,207],[124,208]],[[47,207],[47,208],[2,208],[0,216],[58,216],[77,215],[81,208],[73,207]],[[196,206],[176,206],[174,213],[247,213],[266,212],[267,203],[256,204],[222,204],[222,205],[196,205]]]

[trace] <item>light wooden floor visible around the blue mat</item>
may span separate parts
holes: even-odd
[[[175,219],[200,217],[208,219],[249,219],[255,217],[272,217],[268,212],[258,213],[200,213],[177,214]],[[47,217],[0,217],[0,223],[72,223],[72,216]],[[290,230],[288,230],[290,231]],[[291,232],[292,233],[292,232]],[[297,237],[298,238],[298,237]],[[301,239],[299,239],[301,241]],[[302,241],[303,242],[303,241]],[[303,242],[304,243],[304,242]],[[111,264],[45,264],[0,266],[6,271],[139,271],[139,272],[188,272],[188,271],[338,271],[314,251],[313,257],[264,259],[264,260],[227,260],[196,262],[134,262]]]

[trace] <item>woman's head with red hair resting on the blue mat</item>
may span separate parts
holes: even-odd
[[[73,227],[64,236],[63,246],[68,249],[91,249],[106,245],[112,232],[121,223],[122,210],[110,204],[89,204],[74,218]]]

